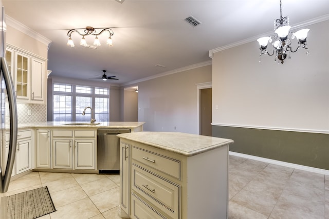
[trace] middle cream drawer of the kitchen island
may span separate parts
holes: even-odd
[[[132,189],[172,218],[179,218],[180,186],[132,165]]]

